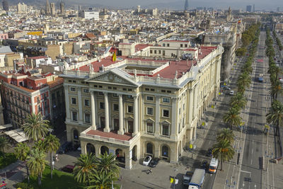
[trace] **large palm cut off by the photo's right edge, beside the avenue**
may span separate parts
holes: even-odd
[[[279,126],[283,123],[283,104],[281,102],[272,102],[270,112],[266,115],[266,122],[276,125],[277,132],[279,131]]]

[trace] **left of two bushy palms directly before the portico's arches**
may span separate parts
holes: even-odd
[[[90,176],[96,169],[96,162],[96,156],[94,156],[92,153],[81,154],[75,162],[75,168],[73,171],[76,181],[89,185]]]

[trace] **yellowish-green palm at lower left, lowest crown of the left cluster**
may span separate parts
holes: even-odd
[[[30,155],[27,158],[30,173],[32,176],[37,176],[38,185],[41,185],[42,172],[45,170],[45,164],[48,163],[45,156],[45,151],[35,148],[30,150]]]

